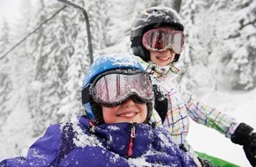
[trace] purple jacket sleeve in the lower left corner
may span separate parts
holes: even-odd
[[[50,126],[28,149],[25,157],[5,159],[0,166],[56,166],[61,142],[60,125]]]

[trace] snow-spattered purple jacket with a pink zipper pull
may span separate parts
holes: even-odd
[[[147,124],[94,126],[79,117],[50,126],[26,158],[6,159],[0,166],[196,166],[167,134]]]

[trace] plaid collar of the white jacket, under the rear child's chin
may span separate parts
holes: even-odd
[[[166,77],[171,74],[178,74],[179,69],[174,66],[173,63],[170,63],[168,66],[158,66],[154,62],[145,62],[140,57],[138,57],[139,62],[142,64],[143,68],[147,70],[147,73],[154,74],[158,77]]]

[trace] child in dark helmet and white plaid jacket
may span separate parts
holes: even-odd
[[[255,166],[256,134],[252,133],[253,128],[200,103],[177,84],[175,75],[178,69],[174,63],[178,61],[184,45],[183,31],[184,25],[177,12],[167,7],[142,11],[132,25],[132,52],[152,79],[154,108],[162,119],[162,126],[169,131],[172,140],[196,160],[197,155],[186,142],[190,117],[243,145],[245,155]]]

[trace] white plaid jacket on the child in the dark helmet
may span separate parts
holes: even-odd
[[[157,85],[162,98],[168,99],[168,112],[162,126],[169,131],[173,142],[186,145],[189,117],[202,125],[215,128],[230,138],[238,126],[237,121],[215,108],[202,104],[193,94],[184,91],[177,84],[178,69],[173,64],[160,67],[153,62],[144,62],[139,57],[138,59],[151,76],[152,83]]]

